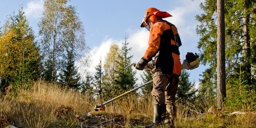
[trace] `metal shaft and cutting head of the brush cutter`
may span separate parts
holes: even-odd
[[[95,110],[95,111],[98,111],[98,110],[105,111],[105,106],[104,106],[104,105],[106,105],[106,104],[108,104],[109,102],[112,102],[112,101],[114,101],[114,100],[117,100],[118,98],[120,98],[120,97],[122,97],[122,96],[125,96],[126,94],[128,94],[128,93],[130,93],[130,92],[133,92],[134,90],[137,90],[137,89],[141,88],[142,86],[145,86],[145,85],[147,85],[147,84],[150,84],[152,81],[153,81],[153,80],[148,81],[148,82],[146,82],[145,84],[143,84],[143,85],[141,85],[141,86],[138,86],[137,88],[131,89],[131,90],[129,90],[128,92],[125,92],[125,93],[123,93],[123,94],[120,94],[119,96],[117,96],[117,97],[115,97],[115,98],[112,98],[111,100],[106,101],[106,102],[104,102],[104,103],[101,104],[101,105],[96,105],[95,108],[94,108],[94,110]]]

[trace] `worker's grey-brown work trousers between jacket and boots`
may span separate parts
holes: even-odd
[[[175,105],[178,84],[178,75],[164,74],[160,68],[157,68],[153,76],[153,89],[151,92],[154,104]]]

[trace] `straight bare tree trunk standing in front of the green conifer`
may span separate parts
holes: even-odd
[[[226,97],[225,14],[224,0],[217,0],[217,106],[222,108]]]

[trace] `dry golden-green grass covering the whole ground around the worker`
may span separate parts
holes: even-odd
[[[112,96],[115,97],[115,96]],[[32,89],[19,90],[15,98],[11,94],[0,98],[0,127],[142,127],[152,122],[151,96],[121,97],[105,105],[105,111],[94,111],[94,106],[104,100],[93,100],[86,94],[61,89],[57,85],[36,82]],[[177,104],[175,127],[256,127],[256,114],[229,114],[231,108],[215,109],[211,113],[199,113],[193,104]],[[201,118],[200,118],[201,117]],[[165,127],[165,126],[160,126]]]

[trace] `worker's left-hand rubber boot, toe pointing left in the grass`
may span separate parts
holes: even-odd
[[[154,127],[162,125],[166,115],[166,104],[157,104],[154,105],[154,121],[151,125],[145,127]]]

